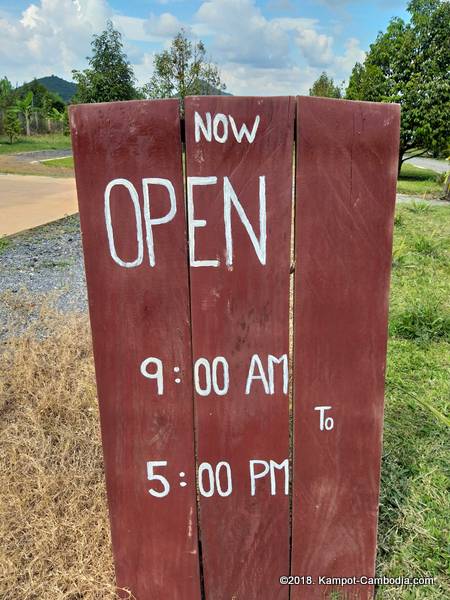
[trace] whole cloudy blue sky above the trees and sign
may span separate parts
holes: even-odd
[[[407,0],[0,0],[0,77],[13,83],[87,66],[107,19],[139,84],[183,27],[201,39],[234,95],[307,94],[322,71],[348,80]]]

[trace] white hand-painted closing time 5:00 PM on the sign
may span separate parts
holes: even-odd
[[[149,460],[147,461],[147,480],[154,484],[154,487],[148,490],[151,496],[155,498],[165,498],[171,489],[167,477],[156,473],[155,469],[167,467],[167,460]],[[253,459],[249,461],[249,488],[250,495],[256,495],[256,481],[269,477],[270,494],[277,494],[277,476],[276,471],[281,471],[284,476],[282,483],[282,493],[287,496],[289,493],[289,459],[277,463],[274,460]],[[185,477],[185,472],[180,472],[180,478]],[[222,460],[217,463],[215,468],[208,462],[200,463],[197,471],[198,489],[200,495],[204,498],[211,498],[217,494],[222,498],[227,498],[233,492],[233,477],[230,463]],[[190,482],[195,486],[195,481]],[[186,487],[188,484],[184,479],[179,482],[180,487]]]

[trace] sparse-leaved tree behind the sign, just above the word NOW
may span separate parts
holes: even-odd
[[[220,94],[225,84],[217,65],[206,58],[203,42],[192,43],[182,29],[169,50],[156,54],[154,75],[144,90],[150,98],[180,98]]]

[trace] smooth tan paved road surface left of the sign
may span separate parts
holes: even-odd
[[[0,236],[56,221],[77,211],[73,177],[0,175]]]

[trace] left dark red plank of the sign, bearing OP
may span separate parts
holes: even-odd
[[[198,600],[178,101],[72,106],[70,119],[117,585],[131,590],[138,600]],[[144,178],[162,178],[170,184],[143,183]],[[110,239],[107,208],[105,213],[108,186]],[[158,223],[164,217],[167,222]],[[143,364],[150,357],[162,361],[159,390],[156,379],[141,373],[141,368],[156,372],[154,361]],[[167,466],[149,461],[167,461]],[[170,492],[163,497],[150,493],[164,493],[164,481],[147,479],[152,469],[169,482]]]

